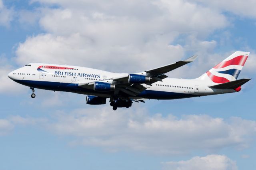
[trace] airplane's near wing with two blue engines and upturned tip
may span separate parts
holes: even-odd
[[[79,83],[78,86],[86,89],[96,90],[96,86],[102,85],[102,90],[104,90],[105,88],[106,91],[114,91],[114,94],[118,94],[120,91],[122,91],[123,93],[129,96],[136,97],[142,91],[147,89],[142,84],[151,86],[152,83],[162,81],[162,79],[168,77],[167,75],[165,75],[165,73],[168,73],[169,71],[181,67],[182,65],[186,65],[188,63],[193,62],[196,59],[196,57],[196,55],[193,55],[192,57],[184,61],[177,61],[176,63],[164,65],[162,67],[150,69],[141,73],[124,74],[120,77],[113,77],[111,79],[93,81],[90,83]],[[136,81],[131,81],[132,79]],[[106,85],[106,87],[103,87],[104,85]]]

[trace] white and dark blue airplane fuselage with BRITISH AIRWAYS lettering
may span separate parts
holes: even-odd
[[[143,74],[143,73],[140,73]],[[8,74],[12,80],[39,89],[68,91],[86,95],[111,97],[114,92],[98,92],[78,87],[79,83],[102,81],[112,83],[113,77],[127,73],[112,73],[98,69],[71,65],[56,65],[46,63],[30,63]],[[180,99],[236,92],[234,89],[211,89],[208,81],[200,79],[166,78],[152,86],[142,84],[147,89],[133,99]]]

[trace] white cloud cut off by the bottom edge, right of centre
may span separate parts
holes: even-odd
[[[238,170],[236,162],[225,155],[193,157],[190,160],[163,163],[163,170]]]

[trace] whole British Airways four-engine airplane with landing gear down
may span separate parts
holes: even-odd
[[[241,85],[250,79],[237,79],[249,52],[236,51],[218,65],[196,79],[167,78],[165,73],[193,62],[197,56],[184,61],[149,69],[140,73],[112,73],[98,69],[29,63],[8,74],[13,81],[30,87],[32,98],[35,89],[66,91],[86,96],[89,105],[106,104],[110,98],[113,110],[131,107],[133,102],[146,99],[182,99],[241,90]]]

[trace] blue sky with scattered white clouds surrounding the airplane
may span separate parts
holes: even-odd
[[[256,2],[0,0],[0,170],[254,170]],[[113,111],[85,95],[8,78],[28,63],[136,73],[198,55],[167,75],[199,77],[249,51],[239,93],[147,100]]]

